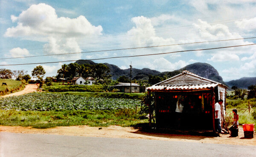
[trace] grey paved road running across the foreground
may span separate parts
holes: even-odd
[[[255,157],[256,146],[0,132],[0,157]]]

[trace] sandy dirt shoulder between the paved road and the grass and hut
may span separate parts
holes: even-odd
[[[229,134],[222,134],[221,137],[204,137],[192,135],[159,134],[146,133],[133,127],[109,126],[109,127],[90,127],[90,126],[61,126],[56,128],[37,129],[21,126],[0,126],[0,131],[25,133],[25,134],[58,134],[69,136],[86,137],[111,137],[111,138],[135,138],[147,140],[166,140],[184,141],[199,143],[233,144],[256,146],[256,137],[244,138],[243,128],[239,128],[239,137],[229,137]]]

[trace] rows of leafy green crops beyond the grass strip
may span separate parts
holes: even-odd
[[[21,111],[107,110],[135,108],[136,104],[140,104],[140,100],[83,97],[48,92],[34,92],[0,99],[0,109]]]

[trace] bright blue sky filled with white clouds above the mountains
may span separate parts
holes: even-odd
[[[41,65],[56,76],[69,60],[182,51],[93,61],[160,72],[201,62],[224,81],[256,77],[256,0],[0,0],[0,36],[0,69],[30,75]],[[212,49],[228,46],[239,47]],[[26,63],[35,64],[8,66]]]

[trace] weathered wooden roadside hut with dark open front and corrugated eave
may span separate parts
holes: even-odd
[[[214,105],[222,99],[221,113],[226,108],[227,86],[186,70],[146,89],[154,93],[157,128],[215,130]],[[175,112],[178,100],[183,103],[180,116]]]

